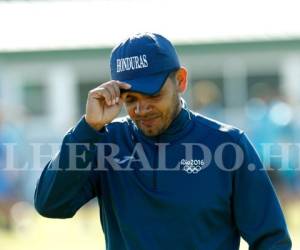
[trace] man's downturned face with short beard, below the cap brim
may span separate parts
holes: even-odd
[[[155,95],[125,93],[124,103],[128,115],[146,136],[163,133],[180,111],[179,93],[170,78]]]

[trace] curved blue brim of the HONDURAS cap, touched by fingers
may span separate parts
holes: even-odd
[[[162,72],[147,77],[136,79],[123,80],[122,82],[129,83],[131,88],[127,91],[139,92],[145,95],[154,95],[160,91],[170,72]]]

